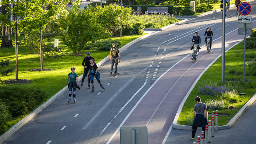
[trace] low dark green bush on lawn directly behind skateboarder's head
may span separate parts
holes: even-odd
[[[121,43],[117,40],[98,40],[94,43],[88,43],[84,47],[84,50],[96,50],[96,51],[110,51],[112,44],[116,44],[116,47],[119,48]]]

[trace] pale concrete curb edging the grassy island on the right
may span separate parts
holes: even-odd
[[[239,44],[240,42],[242,42],[243,40],[237,42],[236,44]],[[228,50],[230,50],[231,48],[233,48],[236,44],[232,45],[230,48],[228,48],[225,52],[227,52]],[[190,87],[190,89],[188,90],[188,93],[186,94],[186,96],[184,97],[184,99],[182,100],[180,107],[176,113],[176,116],[173,120],[172,123],[172,127],[175,129],[180,129],[180,130],[192,130],[192,126],[188,126],[188,125],[180,125],[177,124],[178,118],[180,116],[181,110],[183,108],[183,105],[185,103],[185,101],[188,99],[188,96],[190,94],[190,92],[193,90],[193,88],[195,87],[196,83],[199,81],[199,79],[201,78],[201,76],[204,74],[204,72],[210,68],[210,66],[220,58],[221,54],[215,58],[205,69],[204,71],[201,72],[201,74],[197,77],[196,81],[192,84],[192,86]],[[223,129],[228,129],[231,128],[236,121],[244,114],[244,112],[252,105],[252,103],[256,100],[256,93],[252,96],[252,98],[250,100],[248,100],[246,102],[246,104],[237,112],[237,114],[228,122],[228,124],[226,125],[222,125],[222,126],[218,126],[218,129],[223,130]]]

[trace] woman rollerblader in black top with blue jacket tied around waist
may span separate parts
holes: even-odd
[[[95,61],[93,59],[90,60],[90,68],[87,73],[88,77],[91,78],[91,83],[92,83],[92,92],[94,92],[94,84],[93,84],[93,78],[95,76],[96,80],[100,84],[100,87],[105,90],[103,85],[100,83],[100,72],[98,72],[98,66],[95,64]]]

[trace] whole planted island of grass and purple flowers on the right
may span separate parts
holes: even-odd
[[[246,54],[255,50],[246,49]],[[227,124],[256,92],[256,57],[246,57],[243,82],[244,44],[237,44],[225,54],[225,84],[221,84],[221,57],[203,74],[184,103],[177,124],[192,125],[195,97],[206,103],[208,114],[219,111],[218,125]],[[236,70],[234,70],[236,68]],[[247,93],[240,95],[239,93]],[[208,115],[208,119],[210,116]]]

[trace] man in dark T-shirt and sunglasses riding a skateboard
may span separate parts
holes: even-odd
[[[115,64],[115,73],[117,73],[117,65],[120,62],[120,53],[119,53],[119,50],[116,48],[116,44],[112,44],[112,48],[110,49],[110,60],[111,60],[111,66],[110,66],[111,71],[109,74],[112,75],[114,64]]]

